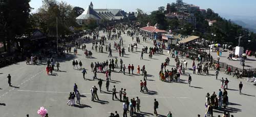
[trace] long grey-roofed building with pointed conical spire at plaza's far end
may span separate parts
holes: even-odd
[[[137,12],[126,13],[121,9],[93,9],[91,2],[84,12],[76,17],[76,22],[80,25],[88,24],[90,20],[95,20],[97,23],[104,23],[105,21],[134,20],[137,16]]]

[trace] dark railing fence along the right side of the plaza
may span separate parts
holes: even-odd
[[[190,56],[193,56],[194,58],[197,58],[198,54],[200,54],[202,57],[202,61],[211,61],[212,63],[219,63],[220,68],[222,68],[222,69],[227,69],[228,67],[230,67],[232,72],[235,71],[236,69],[238,69],[238,71],[243,71],[243,68],[234,67],[234,66],[228,65],[226,63],[218,62],[213,59],[211,60],[209,54],[207,54],[206,52],[201,52],[201,51],[197,51],[194,49],[184,49],[184,48],[180,48],[178,46],[173,46],[173,45],[170,46],[170,48],[188,53]],[[253,75],[254,71],[256,71],[256,68],[244,69],[243,76],[251,77]]]

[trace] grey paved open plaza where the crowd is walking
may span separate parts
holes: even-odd
[[[100,32],[100,36],[102,36]],[[104,34],[106,35],[106,34]],[[227,111],[234,116],[255,116],[256,108],[256,88],[251,82],[246,82],[244,79],[237,79],[230,75],[220,73],[219,79],[216,80],[214,71],[210,71],[211,75],[193,74],[191,70],[185,70],[185,75],[181,75],[181,83],[163,82],[159,80],[160,65],[167,57],[167,51],[164,54],[153,55],[153,58],[148,58],[148,54],[144,54],[144,60],[140,60],[140,51],[142,46],[148,48],[153,46],[152,41],[142,42],[138,45],[138,52],[128,52],[127,46],[132,42],[131,37],[122,34],[123,43],[126,54],[124,57],[119,57],[119,53],[113,48],[114,41],[110,40],[106,44],[111,43],[113,49],[113,57],[108,57],[108,52],[104,53],[93,52],[93,58],[86,58],[81,49],[78,49],[78,55],[68,55],[65,59],[59,59],[61,72],[54,71],[54,75],[47,75],[46,65],[26,65],[25,62],[20,62],[5,68],[0,69],[0,113],[2,117],[10,116],[30,116],[37,115],[39,107],[44,106],[49,113],[49,116],[109,116],[110,112],[118,111],[122,115],[122,103],[118,100],[112,100],[112,92],[107,92],[105,81],[102,84],[102,93],[99,93],[99,99],[95,102],[91,101],[90,89],[92,86],[97,86],[98,80],[93,79],[90,64],[93,62],[104,62],[117,57],[122,58],[126,68],[127,65],[133,64],[135,71],[139,65],[141,68],[145,65],[147,70],[147,88],[148,93],[140,92],[140,80],[143,80],[141,75],[126,75],[118,73],[119,68],[112,72],[110,81],[110,90],[113,85],[116,85],[117,92],[121,89],[126,89],[129,99],[138,96],[141,100],[141,113],[136,113],[136,116],[154,116],[153,103],[154,99],[159,102],[159,116],[166,116],[168,111],[173,113],[173,116],[193,117],[197,114],[204,116],[205,113],[205,96],[206,93],[212,94],[221,88],[220,77],[228,78],[228,96],[229,105]],[[140,37],[141,38],[141,37]],[[132,43],[135,43],[132,42]],[[92,43],[87,44],[87,49],[91,50]],[[73,49],[72,49],[73,50]],[[186,59],[186,58],[185,58]],[[56,60],[56,59],[55,59]],[[84,80],[82,71],[73,69],[72,61],[78,60],[83,63],[83,67],[87,69],[88,74]],[[192,68],[192,61],[188,61],[188,68]],[[119,64],[119,61],[118,61]],[[197,64],[197,62],[196,62]],[[174,58],[170,58],[170,65],[167,69],[175,67]],[[127,72],[127,69],[126,69]],[[7,75],[11,74],[12,87],[8,85]],[[192,76],[191,87],[187,84],[188,74]],[[105,80],[105,74],[97,73],[97,77]],[[239,94],[238,85],[242,81],[244,84],[242,95]],[[81,104],[69,106],[67,105],[69,93],[73,92],[74,83],[78,85],[78,91],[81,93]],[[98,87],[99,89],[99,87]],[[118,94],[117,94],[118,95]],[[222,115],[223,110],[214,110],[214,116]],[[129,115],[129,113],[128,113]]]

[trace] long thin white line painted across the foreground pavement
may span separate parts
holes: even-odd
[[[36,93],[60,93],[60,94],[69,94],[70,92],[50,92],[50,91],[30,91],[30,90],[17,90],[18,92],[36,92]],[[80,94],[88,94],[91,95],[91,93],[80,93]],[[112,94],[98,94],[98,95],[109,95],[112,96]],[[137,97],[138,95],[129,95],[132,97]],[[180,99],[191,99],[189,97],[165,97],[165,96],[142,96],[139,95],[139,97],[145,97],[145,98],[180,98]]]

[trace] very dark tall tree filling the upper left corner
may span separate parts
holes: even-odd
[[[28,27],[31,11],[29,2],[30,0],[0,0],[0,31],[6,37],[3,39],[5,51],[11,51],[11,41],[16,36],[22,36]]]

